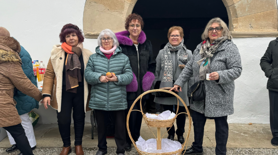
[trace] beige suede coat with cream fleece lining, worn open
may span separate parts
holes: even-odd
[[[84,66],[86,69],[89,57],[93,53],[88,49],[82,49],[82,56]],[[63,80],[63,69],[64,69],[65,51],[61,45],[54,45],[51,51],[51,57],[46,67],[46,72],[43,79],[43,90],[42,94],[51,95],[50,105],[53,109],[61,111],[62,104],[62,80]],[[85,81],[84,78],[84,110],[90,111],[88,107],[90,101],[91,86]]]

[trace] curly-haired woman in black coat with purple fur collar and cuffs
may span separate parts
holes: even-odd
[[[127,55],[130,60],[130,66],[133,71],[133,80],[126,86],[127,88],[127,116],[130,107],[135,99],[145,91],[151,89],[155,79],[154,71],[156,61],[153,59],[153,50],[151,42],[146,40],[146,34],[142,31],[144,27],[143,19],[140,15],[130,14],[125,20],[126,31],[116,33],[122,53]],[[146,101],[146,96],[142,98],[142,107]],[[133,110],[140,110],[140,100],[135,104]],[[132,139],[137,141],[140,136],[142,114],[139,111],[132,111],[130,114],[129,128]],[[131,140],[126,129],[125,150],[131,150]]]

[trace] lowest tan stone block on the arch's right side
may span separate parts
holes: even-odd
[[[277,9],[238,17],[238,29],[234,31],[277,31]],[[234,24],[234,23],[233,23]]]

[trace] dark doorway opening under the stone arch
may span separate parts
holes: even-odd
[[[143,31],[151,41],[154,56],[162,44],[168,43],[167,32],[171,26],[183,28],[184,43],[193,52],[201,43],[201,34],[210,19],[220,17],[229,25],[222,0],[138,0],[132,13],[142,16]]]

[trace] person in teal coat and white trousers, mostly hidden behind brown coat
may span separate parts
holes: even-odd
[[[7,29],[4,27],[0,27],[0,36],[10,36],[10,33]],[[25,73],[25,75],[28,77],[28,79],[37,86],[37,81],[35,79],[35,75],[33,72],[33,66],[32,66],[32,59],[30,54],[20,45],[21,51],[20,51],[20,59],[22,61],[22,70]],[[28,96],[26,94],[23,94],[21,91],[14,88],[14,100],[17,102],[15,108],[17,109],[18,114],[20,115],[21,119],[21,125],[24,128],[25,134],[28,138],[29,144],[31,146],[31,149],[34,150],[36,148],[36,139],[35,134],[33,130],[33,125],[31,120],[29,119],[28,113],[34,109],[39,108],[39,102],[36,101],[33,97]],[[10,148],[6,149],[6,152],[13,152],[17,150],[17,144],[14,141],[14,138],[12,135],[7,131],[10,144],[12,145]],[[18,155],[22,155],[20,152]]]

